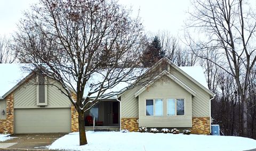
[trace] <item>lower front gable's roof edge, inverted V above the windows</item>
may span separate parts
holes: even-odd
[[[172,79],[174,82],[176,82],[178,85],[180,85],[182,88],[184,88],[185,90],[187,90],[191,95],[196,96],[196,93],[194,90],[192,90],[191,88],[189,88],[187,85],[185,85],[185,83],[181,82],[178,78],[176,78],[174,75],[170,74],[169,72],[167,72],[166,70],[164,70],[163,72],[161,72],[159,75],[157,75],[154,80],[150,81],[146,86],[142,87],[139,91],[137,91],[137,93],[134,94],[134,97],[139,96],[143,91],[145,91],[147,89],[147,87],[153,85],[155,83],[155,81],[157,81],[159,78],[163,77],[163,75],[167,75],[167,77],[169,77],[170,79]]]

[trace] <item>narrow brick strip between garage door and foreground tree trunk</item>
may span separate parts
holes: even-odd
[[[76,100],[76,94],[71,93],[72,98]],[[79,130],[78,127],[78,113],[76,111],[75,106],[71,105],[71,132],[77,132]]]

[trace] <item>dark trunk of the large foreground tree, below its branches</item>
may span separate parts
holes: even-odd
[[[78,112],[79,140],[80,146],[87,144],[84,125],[84,112]]]

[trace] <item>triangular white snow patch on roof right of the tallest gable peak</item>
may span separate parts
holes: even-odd
[[[202,66],[179,66],[179,68],[187,73],[191,78],[199,82],[206,89],[209,89]]]

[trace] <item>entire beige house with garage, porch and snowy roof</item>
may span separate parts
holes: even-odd
[[[0,132],[78,131],[78,115],[69,99],[57,87],[43,85],[46,80],[57,86],[59,83],[26,73],[20,66],[0,64]],[[214,94],[207,88],[202,68],[178,67],[162,58],[151,69],[159,69],[159,74],[147,85],[103,100],[85,113],[86,129],[93,128],[87,119],[92,116],[95,129],[137,131],[146,126],[209,134]],[[34,85],[36,81],[43,83]]]

